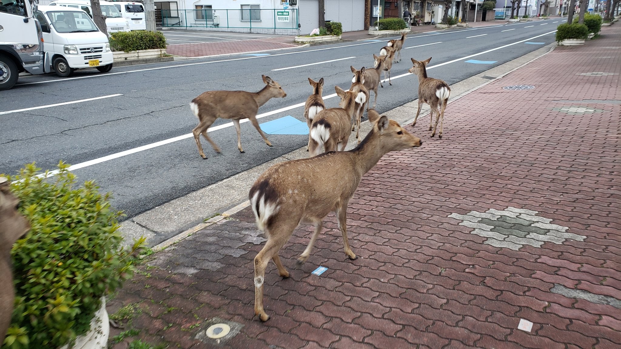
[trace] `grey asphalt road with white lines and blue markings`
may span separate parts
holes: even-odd
[[[553,42],[551,32],[562,21],[414,35],[406,40],[403,60],[393,65],[392,76],[407,73],[410,57],[433,57],[429,75],[453,84]],[[334,94],[335,85],[347,89],[350,65],[373,66],[373,53],[379,53],[385,43],[386,39],[348,42],[261,57],[124,66],[106,74],[78,71],[66,79],[53,75],[20,78],[15,88],[0,92],[0,173],[16,173],[32,161],[50,170],[59,160],[77,164],[80,168],[74,172],[79,180],[94,179],[103,191],[114,194],[114,205],[132,217],[307,143],[307,135],[268,135],[274,147],[267,147],[246,122],[242,124],[245,153],[240,154],[235,129],[229,120],[219,119],[212,127],[222,129],[210,132],[210,137],[223,153],[216,154],[202,140],[209,157],[202,160],[191,137],[197,125],[188,105],[191,99],[213,89],[258,91],[264,86],[261,74],[265,74],[278,81],[288,96],[261,107],[259,122],[288,115],[303,121],[303,104],[311,93],[307,77],[325,79],[324,96]],[[320,63],[329,60],[337,61]],[[299,67],[289,68],[293,66]],[[392,79],[392,86],[384,83],[378,111],[412,101],[417,86],[412,75]],[[66,102],[71,104],[62,104]],[[335,97],[325,102],[327,107],[338,106]],[[45,107],[32,109],[41,106]],[[450,137],[450,132],[445,134],[446,140]]]

